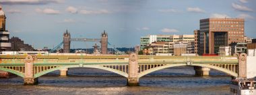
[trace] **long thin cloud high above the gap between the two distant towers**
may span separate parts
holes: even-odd
[[[81,10],[81,11],[79,11],[79,13],[85,14],[85,15],[93,15],[93,14],[107,14],[107,13],[111,13],[111,12],[106,9],[100,9],[98,11]]]

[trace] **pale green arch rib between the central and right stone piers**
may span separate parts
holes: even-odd
[[[165,66],[160,66],[160,67],[156,67],[156,68],[151,68],[149,70],[146,70],[144,72],[139,73],[138,78],[141,78],[142,76],[145,76],[145,75],[150,74],[152,72],[156,72],[158,70],[162,70],[162,69],[165,69],[165,68],[179,67],[179,66],[188,66],[188,65],[187,64],[172,64],[172,65],[165,65]],[[205,68],[211,68],[211,69],[218,70],[220,72],[224,72],[226,74],[229,74],[230,76],[238,77],[237,73],[232,72],[230,70],[226,70],[224,68],[217,67],[217,66],[211,66],[211,65],[205,65],[205,64],[191,64],[189,66],[200,66],[200,67],[205,67]]]

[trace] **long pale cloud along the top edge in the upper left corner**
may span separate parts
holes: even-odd
[[[46,5],[49,3],[62,3],[64,0],[1,0],[3,5]]]

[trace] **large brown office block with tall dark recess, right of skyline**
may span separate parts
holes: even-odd
[[[220,46],[244,42],[245,19],[209,18],[200,20],[198,54],[218,54]]]

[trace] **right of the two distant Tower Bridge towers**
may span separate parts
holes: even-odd
[[[108,53],[108,33],[104,30],[104,32],[101,34],[101,53],[107,54]]]

